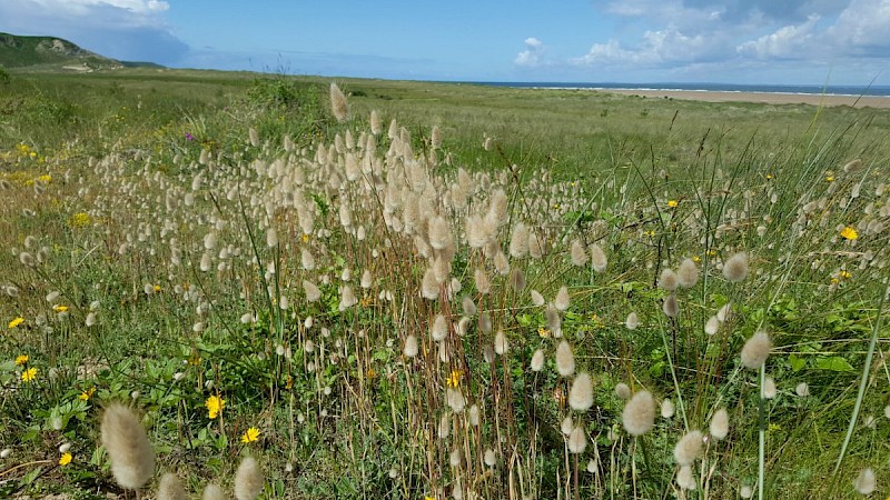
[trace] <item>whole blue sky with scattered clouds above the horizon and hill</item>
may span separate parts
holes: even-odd
[[[890,84],[890,0],[2,0],[0,31],[177,68]]]

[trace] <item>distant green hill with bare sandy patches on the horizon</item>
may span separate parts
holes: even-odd
[[[0,67],[92,71],[123,67],[159,67],[150,62],[109,59],[53,37],[21,37],[0,32]]]

